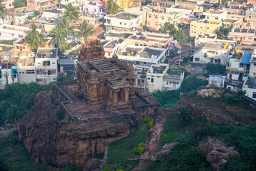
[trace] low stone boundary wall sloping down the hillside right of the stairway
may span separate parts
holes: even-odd
[[[180,96],[180,99],[178,100],[178,103],[176,103],[175,108],[178,109],[182,107],[188,108],[188,110],[190,110],[190,113],[192,113],[192,115],[194,115],[195,117],[202,117],[204,119],[213,120],[215,123],[235,123],[235,121],[232,120],[230,117],[222,115],[215,110],[210,110],[203,106],[196,105],[192,101]]]

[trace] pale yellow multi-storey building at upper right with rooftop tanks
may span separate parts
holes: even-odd
[[[190,37],[197,37],[200,33],[215,34],[220,26],[222,26],[221,21],[191,21]]]

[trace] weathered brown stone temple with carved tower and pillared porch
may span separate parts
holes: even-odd
[[[87,42],[81,45],[76,73],[78,94],[91,105],[129,108],[130,101],[135,99],[133,67],[117,56],[105,58],[96,37],[88,37]]]

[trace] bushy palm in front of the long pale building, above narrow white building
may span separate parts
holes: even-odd
[[[37,26],[32,24],[30,30],[26,32],[25,43],[29,43],[31,49],[35,49],[37,51],[37,48],[46,45],[47,40],[46,36],[44,36],[43,33],[36,31],[36,29]]]

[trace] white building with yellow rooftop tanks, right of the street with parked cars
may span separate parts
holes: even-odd
[[[215,40],[205,43],[193,53],[195,63],[220,63],[226,65],[227,58],[232,56],[235,50],[235,41]]]

